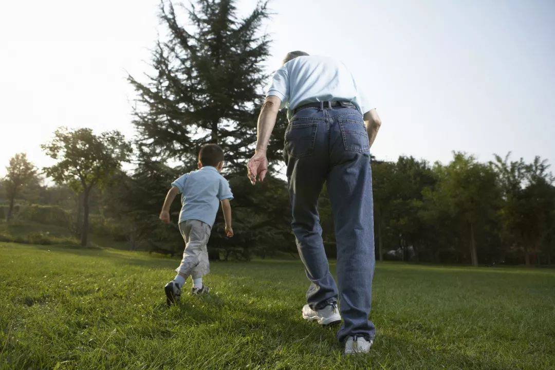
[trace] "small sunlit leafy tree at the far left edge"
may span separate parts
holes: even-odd
[[[6,177],[4,178],[4,187],[6,188],[6,196],[9,200],[7,219],[13,216],[13,206],[19,192],[25,186],[38,183],[37,169],[27,160],[27,154],[18,153],[9,160],[6,167]]]

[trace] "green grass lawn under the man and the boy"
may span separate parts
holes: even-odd
[[[168,308],[177,263],[0,243],[0,368],[555,368],[553,270],[379,264],[375,346],[345,358],[300,317],[300,262],[213,263],[210,295]]]

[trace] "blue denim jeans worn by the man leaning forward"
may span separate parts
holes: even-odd
[[[326,183],[337,244],[337,338],[374,338],[368,320],[374,275],[374,205],[370,145],[362,115],[352,104],[305,108],[291,117],[284,157],[292,207],[291,226],[310,287],[306,300],[318,309],[337,301],[327,262],[317,201]]]

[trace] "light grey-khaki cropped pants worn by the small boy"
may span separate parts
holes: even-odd
[[[186,220],[179,223],[179,231],[185,240],[183,260],[176,272],[185,276],[191,275],[194,279],[202,277],[210,272],[208,262],[208,238],[210,237],[210,225],[199,220]]]

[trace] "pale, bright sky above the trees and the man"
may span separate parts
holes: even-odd
[[[317,3],[317,6],[315,4]],[[238,15],[255,0],[239,0]],[[0,4],[0,175],[59,126],[132,139],[128,73],[149,71],[158,0]],[[512,151],[555,163],[555,2],[273,0],[268,72],[290,50],[342,60],[382,119],[379,159]],[[186,22],[186,19],[183,19]],[[555,166],[552,168],[555,171]]]

